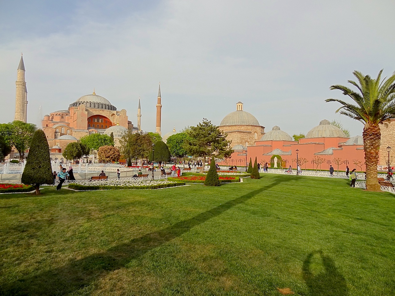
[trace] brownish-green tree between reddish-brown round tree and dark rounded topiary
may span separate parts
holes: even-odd
[[[125,159],[147,159],[152,151],[152,141],[149,135],[141,132],[128,131],[119,141],[120,153]],[[128,162],[129,163],[129,162]]]

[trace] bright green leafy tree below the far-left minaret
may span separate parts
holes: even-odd
[[[19,160],[23,161],[24,152],[30,148],[36,129],[35,124],[14,120],[8,124],[0,124],[0,135],[7,144],[15,147],[19,152]]]

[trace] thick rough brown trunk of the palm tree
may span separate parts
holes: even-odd
[[[366,124],[363,129],[363,149],[365,150],[366,163],[366,189],[380,191],[377,180],[378,151],[380,149],[380,127]]]

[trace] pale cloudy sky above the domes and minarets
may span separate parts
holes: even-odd
[[[0,123],[15,112],[21,52],[28,122],[91,94],[155,131],[158,84],[162,135],[203,118],[253,114],[270,131],[306,134],[323,119],[361,135],[335,114],[333,84],[395,70],[393,0],[126,1],[0,0]],[[41,106],[41,111],[40,111]]]

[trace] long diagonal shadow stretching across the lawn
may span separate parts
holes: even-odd
[[[0,295],[64,295],[81,289],[105,272],[124,267],[130,260],[144,255],[148,251],[188,232],[193,227],[226,212],[238,204],[243,204],[259,193],[282,182],[287,182],[287,180],[278,176],[269,185],[229,200],[188,220],[180,221],[162,230],[150,232],[128,243],[116,245],[105,252],[89,255],[79,260],[70,260],[59,268],[21,277],[16,281],[2,285]]]

